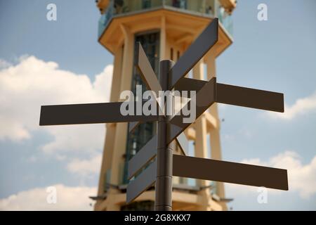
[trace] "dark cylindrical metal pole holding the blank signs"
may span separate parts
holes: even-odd
[[[162,86],[162,91],[168,91],[168,73],[172,67],[171,60],[162,60],[160,62],[159,83]],[[166,93],[166,92],[165,92]],[[172,168],[173,168],[173,149],[172,143],[167,144],[168,130],[167,110],[172,106],[170,96],[165,98],[164,115],[160,115],[157,124],[157,175],[155,186],[155,201],[154,210],[156,211],[171,211],[172,210]],[[169,98],[169,99],[168,99]]]

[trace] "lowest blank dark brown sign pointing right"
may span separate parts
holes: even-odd
[[[173,176],[289,190],[286,169],[182,155],[173,155]]]

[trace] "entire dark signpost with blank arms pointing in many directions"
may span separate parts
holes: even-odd
[[[225,103],[283,113],[283,94],[218,84],[215,77],[209,82],[184,77],[217,41],[218,19],[214,19],[176,64],[170,60],[160,62],[159,79],[154,74],[154,70],[152,70],[140,44],[136,49],[138,53],[136,68],[140,72],[147,89],[154,91],[157,96],[159,96],[159,91],[170,91],[172,89],[196,91],[197,118],[213,103]],[[156,101],[158,101],[157,98]],[[189,103],[190,101],[187,104]],[[166,101],[166,104],[169,104],[168,101]],[[169,117],[166,114],[166,108],[170,105],[164,105],[164,107],[159,105],[160,113],[157,113],[157,115],[134,114],[126,116],[121,115],[120,106],[121,103],[46,105],[41,107],[39,124],[129,122],[129,131],[133,131],[140,122],[156,121],[157,134],[129,161],[128,176],[129,179],[133,177],[135,179],[130,181],[127,186],[127,203],[131,203],[147,188],[155,184],[155,210],[172,210],[172,176],[288,190],[287,170],[285,169],[186,156],[188,142],[183,131],[190,123],[184,123],[184,116],[180,114]],[[174,140],[180,146],[183,155],[173,155],[174,146],[172,142]],[[190,165],[190,167],[186,165]],[[143,172],[140,172],[141,169],[143,169]]]

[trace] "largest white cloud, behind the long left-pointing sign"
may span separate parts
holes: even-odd
[[[112,69],[108,65],[91,82],[87,75],[27,56],[0,70],[0,140],[22,141],[31,139],[33,131],[46,131],[53,137],[42,146],[46,153],[102,148],[104,124],[39,127],[39,113],[41,105],[109,101]]]

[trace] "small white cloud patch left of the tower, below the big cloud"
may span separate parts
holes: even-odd
[[[74,159],[70,161],[67,165],[67,169],[74,173],[79,174],[81,176],[88,176],[91,174],[98,174],[100,172],[102,155],[96,155],[95,157],[89,160],[80,160]]]

